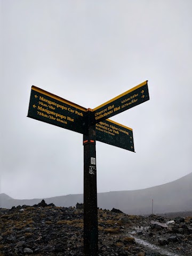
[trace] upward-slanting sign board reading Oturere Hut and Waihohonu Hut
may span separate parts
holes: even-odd
[[[147,81],[93,109],[93,124],[149,100]]]

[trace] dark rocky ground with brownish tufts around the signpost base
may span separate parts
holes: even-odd
[[[0,256],[83,255],[83,209],[38,205],[0,209]],[[152,222],[151,222],[152,221]],[[98,210],[98,256],[192,255],[192,218]]]

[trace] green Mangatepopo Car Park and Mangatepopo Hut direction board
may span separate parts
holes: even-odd
[[[82,134],[87,133],[87,109],[36,86],[31,87],[28,117]]]

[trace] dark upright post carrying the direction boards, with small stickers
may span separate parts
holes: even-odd
[[[89,111],[89,118],[91,111]],[[83,135],[84,146],[84,255],[98,255],[98,207],[95,125]]]

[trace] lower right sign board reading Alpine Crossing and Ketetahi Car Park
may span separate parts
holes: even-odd
[[[109,119],[96,124],[96,140],[134,152],[133,130]]]

